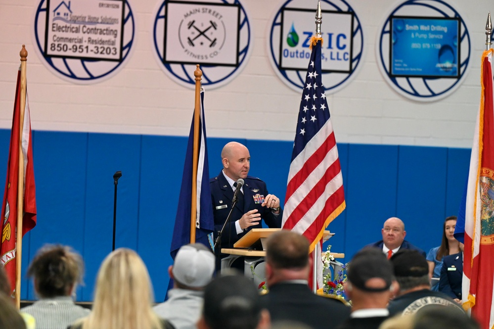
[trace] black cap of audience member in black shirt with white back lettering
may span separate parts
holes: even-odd
[[[391,257],[396,277],[423,277],[429,274],[429,264],[420,252],[401,249]]]

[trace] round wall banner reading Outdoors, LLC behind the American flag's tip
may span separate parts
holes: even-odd
[[[276,11],[269,30],[269,60],[276,75],[291,89],[304,89],[315,31],[314,1],[288,0]],[[345,0],[321,0],[322,83],[335,93],[355,77],[362,60],[363,32],[359,17]]]

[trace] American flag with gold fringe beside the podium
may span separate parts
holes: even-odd
[[[282,220],[283,229],[309,239],[311,251],[345,209],[338,149],[321,82],[321,42],[313,43],[307,69]]]

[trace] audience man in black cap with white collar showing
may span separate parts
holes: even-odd
[[[389,317],[386,308],[396,293],[398,283],[393,280],[393,266],[376,248],[360,250],[347,270],[345,291],[352,301],[350,318],[338,329],[377,329]]]

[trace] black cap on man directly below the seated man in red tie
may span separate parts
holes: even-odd
[[[347,278],[353,286],[360,290],[385,291],[393,282],[393,265],[381,250],[364,248],[350,262]],[[368,285],[368,281],[373,278],[383,279],[386,283],[382,287],[371,287]]]

